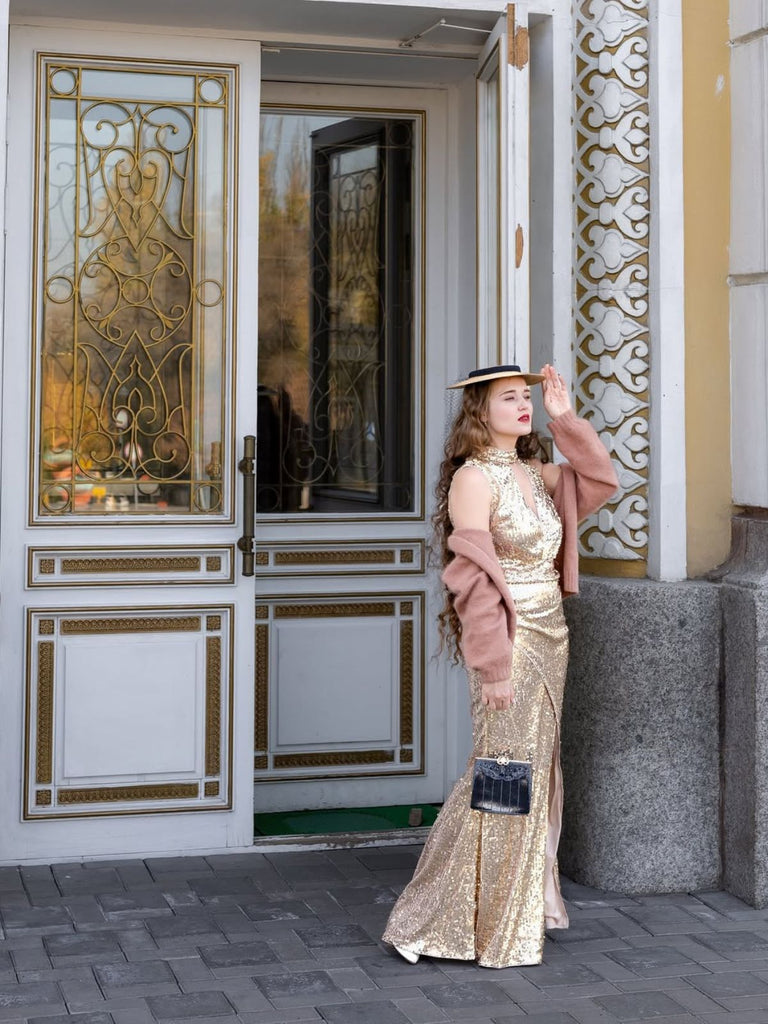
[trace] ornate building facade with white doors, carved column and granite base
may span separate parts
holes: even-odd
[[[563,865],[768,899],[764,6],[0,5],[2,861],[441,801],[444,386],[552,360],[621,482]]]

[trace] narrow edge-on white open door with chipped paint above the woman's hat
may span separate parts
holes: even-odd
[[[477,63],[477,366],[527,366],[527,5],[507,5]]]

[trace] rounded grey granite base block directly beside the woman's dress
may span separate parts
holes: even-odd
[[[570,663],[560,867],[649,894],[720,882],[717,585],[583,577]]]

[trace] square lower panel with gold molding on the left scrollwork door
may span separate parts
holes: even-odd
[[[229,809],[233,612],[29,609],[25,820]]]

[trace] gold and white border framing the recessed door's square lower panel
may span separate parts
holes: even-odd
[[[331,778],[393,777],[397,775],[423,775],[425,768],[425,692],[426,692],[426,636],[424,591],[386,594],[383,601],[367,594],[319,594],[264,595],[259,596],[256,605],[256,707],[255,707],[255,782],[306,781]],[[418,606],[418,622],[421,632],[420,647],[416,647],[415,624]],[[361,616],[387,616],[399,621],[399,750],[382,748],[378,750],[336,750],[336,751],[291,751],[285,754],[269,751],[269,634],[270,624],[291,618],[330,618]],[[266,622],[265,622],[266,620]],[[419,738],[415,742],[415,720],[417,687],[414,671],[419,669],[418,708]],[[418,763],[417,763],[418,756]],[[311,768],[354,768],[392,765],[395,770],[334,772],[333,774],[309,773],[302,775],[282,775],[281,771]],[[403,767],[397,771],[398,766]]]

